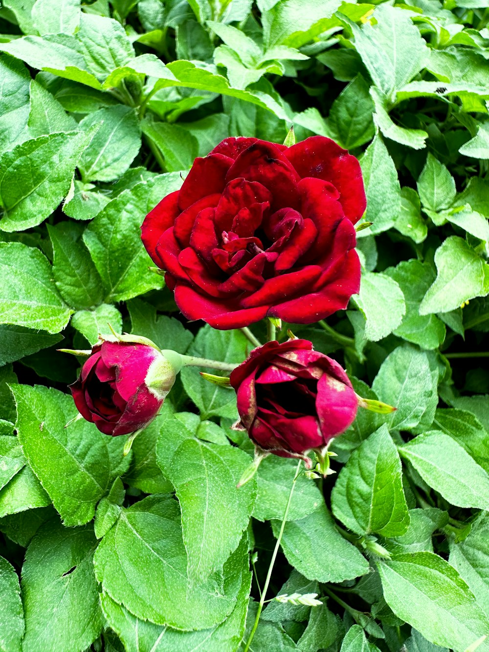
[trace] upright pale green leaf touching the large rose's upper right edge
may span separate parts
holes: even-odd
[[[367,207],[363,216],[372,226],[360,237],[381,233],[393,226],[401,209],[401,190],[394,161],[379,134],[368,145],[361,159]]]

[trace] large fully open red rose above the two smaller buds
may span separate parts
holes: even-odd
[[[187,319],[312,323],[359,290],[359,162],[329,138],[227,138],[146,216],[143,243]]]

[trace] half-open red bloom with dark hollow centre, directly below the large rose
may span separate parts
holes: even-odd
[[[308,340],[267,342],[231,372],[241,422],[261,449],[301,457],[344,432],[357,413],[348,376]]]

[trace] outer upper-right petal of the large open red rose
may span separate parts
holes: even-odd
[[[330,181],[340,192],[345,215],[356,224],[365,212],[362,170],[355,156],[324,136],[311,136],[284,151],[301,177]]]

